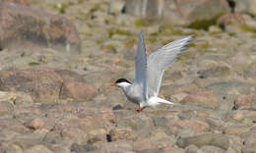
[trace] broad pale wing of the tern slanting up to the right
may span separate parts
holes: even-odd
[[[193,35],[189,35],[172,41],[149,56],[149,97],[159,95],[163,72],[186,50],[186,46],[192,39]]]

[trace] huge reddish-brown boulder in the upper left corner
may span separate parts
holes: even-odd
[[[23,2],[23,1],[21,1]],[[25,2],[25,1],[24,1]],[[0,46],[80,50],[80,38],[67,18],[16,3],[0,3]]]

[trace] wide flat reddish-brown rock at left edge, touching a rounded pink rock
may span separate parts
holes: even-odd
[[[0,80],[0,90],[29,93],[36,102],[56,101],[62,84],[53,69],[1,71]]]

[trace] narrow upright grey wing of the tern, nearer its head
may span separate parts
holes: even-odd
[[[140,34],[138,53],[136,56],[136,77],[134,79],[134,85],[140,85],[143,89],[145,99],[148,99],[148,69],[147,69],[147,54],[144,44],[143,31]]]

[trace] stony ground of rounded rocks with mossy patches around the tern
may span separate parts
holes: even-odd
[[[81,49],[1,48],[1,153],[256,152],[256,29],[248,15],[241,17],[250,26],[205,30],[121,14],[121,0],[29,2],[70,19]],[[149,54],[196,34],[160,89],[183,107],[139,114],[120,88],[107,86],[133,80],[141,30]]]

